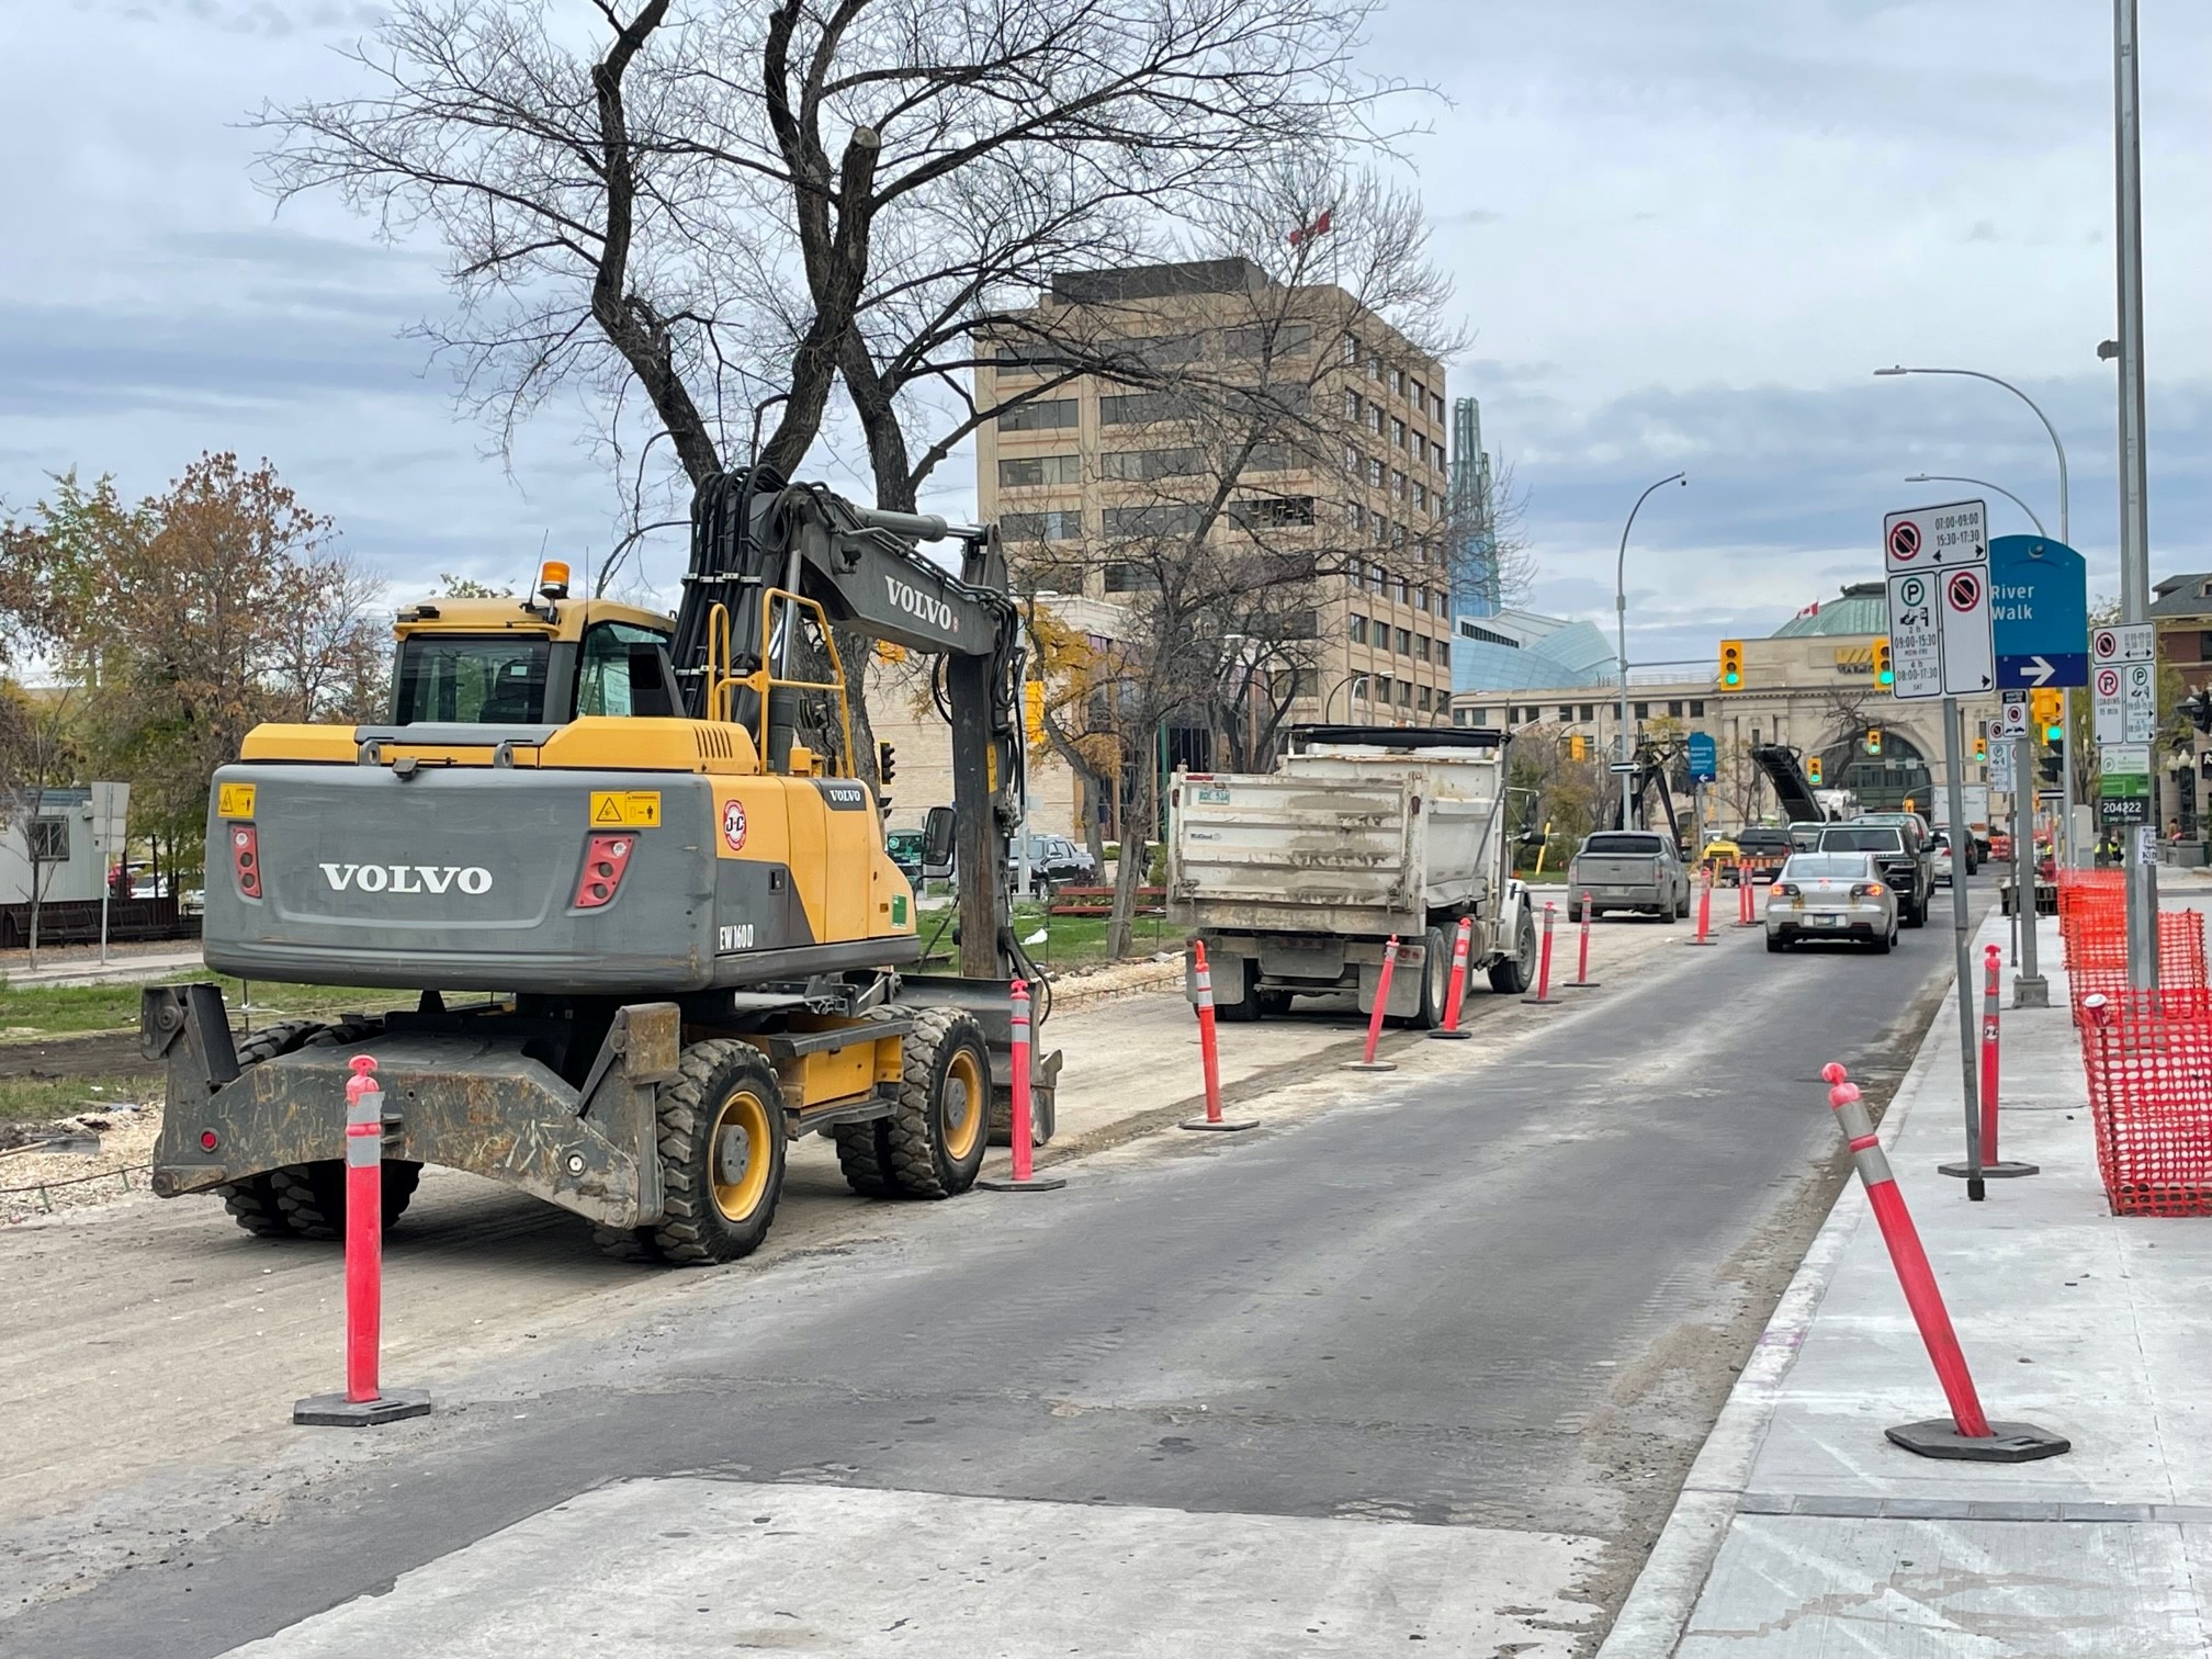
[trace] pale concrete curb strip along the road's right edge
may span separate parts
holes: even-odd
[[[1896,1095],[1882,1110],[1882,1150],[1896,1146],[1905,1119],[1920,1104],[1920,1093],[1933,1073],[1933,1051],[1942,1033],[1958,1022],[1958,987],[1944,991],[1929,1018],[1929,1026],[1913,1053]],[[1818,1086],[1816,1086],[1818,1088]],[[1595,1659],[1668,1659],[1681,1641],[1697,1599],[1705,1590],[1728,1526],[1736,1517],[1736,1500],[1743,1498],[1752,1475],[1752,1460],[1765,1440],[1767,1425],[1781,1398],[1781,1383],[1796,1365],[1805,1332],[1812,1329],[1820,1301],[1827,1296],[1836,1265],[1843,1261],[1851,1234],[1867,1219],[1867,1194],[1856,1179],[1845,1179],[1836,1190],[1836,1203],[1814,1234],[1805,1259],[1798,1263],[1790,1287],[1774,1305],[1767,1329],[1743,1363],[1736,1385],[1728,1391],[1728,1402],[1705,1436],[1705,1444],[1690,1464],[1681,1482],[1681,1495],[1659,1528],[1652,1553],[1644,1559],[1619,1617],[1606,1632]]]

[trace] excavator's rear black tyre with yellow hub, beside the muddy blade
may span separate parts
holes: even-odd
[[[664,1261],[697,1265],[750,1256],[783,1197],[783,1086],[752,1044],[732,1037],[684,1048],[661,1088],[661,1186],[668,1214],[653,1228]]]

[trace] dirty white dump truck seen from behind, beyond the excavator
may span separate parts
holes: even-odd
[[[1168,918],[1206,942],[1223,1020],[1285,1013],[1296,995],[1356,991],[1444,1018],[1451,936],[1475,922],[1469,975],[1520,995],[1535,978],[1528,894],[1513,878],[1506,734],[1305,726],[1274,772],[1181,772]]]

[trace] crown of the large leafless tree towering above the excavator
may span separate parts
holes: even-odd
[[[458,310],[425,334],[502,442],[564,385],[615,427],[644,400],[628,540],[661,438],[690,484],[750,456],[790,476],[838,378],[907,509],[993,414],[909,440],[931,396],[967,400],[1002,292],[1374,137],[1352,53],[1376,4],[599,0],[573,46],[542,2],[398,0],[352,53],[372,93],[263,111],[268,173],[445,241]]]

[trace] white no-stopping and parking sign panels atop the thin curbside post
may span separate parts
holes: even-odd
[[[1989,507],[1913,507],[1882,520],[1889,657],[1902,701],[1975,697],[1997,684],[1989,617]]]

